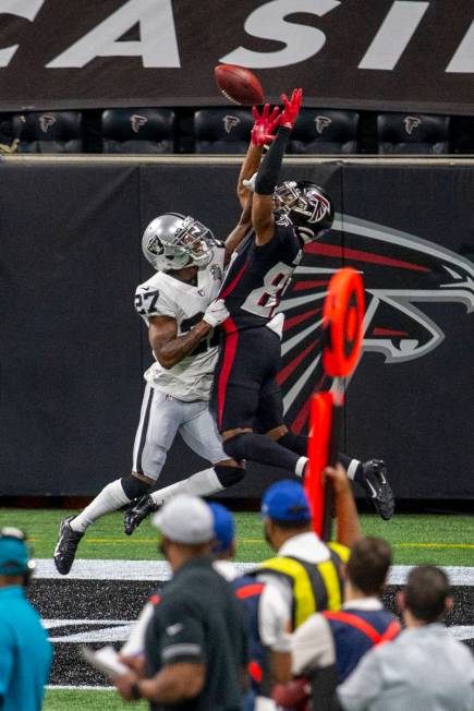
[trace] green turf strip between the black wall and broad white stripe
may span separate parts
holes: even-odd
[[[69,513],[61,509],[0,508],[0,526],[20,526],[27,531],[34,554],[51,557],[59,522]],[[236,514],[238,559],[262,561],[270,553],[262,535],[258,514]],[[400,515],[391,521],[362,516],[364,533],[381,535],[393,546],[394,563],[474,566],[474,517],[457,515]],[[144,521],[127,538],[122,533],[122,514],[104,517],[89,528],[81,542],[80,558],[157,559],[157,531]]]

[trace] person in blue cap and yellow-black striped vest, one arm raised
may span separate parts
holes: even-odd
[[[341,465],[327,467],[325,475],[335,489],[335,542],[324,543],[313,531],[309,503],[299,482],[279,481],[267,489],[262,499],[265,537],[277,556],[262,564],[258,579],[278,585],[292,630],[316,611],[340,610],[341,564],[349,558],[349,547],[362,535],[344,469]]]

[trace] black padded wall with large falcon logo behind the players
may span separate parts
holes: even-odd
[[[238,165],[0,162],[0,494],[97,493],[130,470],[151,354],[133,308],[150,275],[142,231],[191,214],[224,238]],[[288,161],[333,197],[283,310],[287,419],[307,425],[320,383],[320,313],[335,269],[363,274],[363,356],[348,384],[343,448],[385,458],[398,497],[474,498],[474,167]],[[330,386],[325,382],[323,387]],[[160,484],[203,469],[180,437]],[[281,471],[248,467],[228,496]]]

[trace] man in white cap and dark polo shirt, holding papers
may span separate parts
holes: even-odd
[[[240,711],[247,664],[244,610],[210,557],[209,506],[182,494],[153,518],[173,571],[156,596],[145,635],[145,673],[114,684],[126,700],[148,699],[150,711]]]

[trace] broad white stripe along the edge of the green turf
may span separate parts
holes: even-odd
[[[241,573],[252,570],[258,563],[234,563]],[[389,582],[403,585],[409,571],[414,566],[394,565],[391,568]],[[474,586],[474,567],[446,566],[443,567],[452,586]],[[54,567],[52,559],[39,558],[36,561],[35,577],[39,579],[52,578],[57,580],[169,580],[170,568],[163,561],[88,561],[78,558],[74,561],[71,573],[62,576]]]

